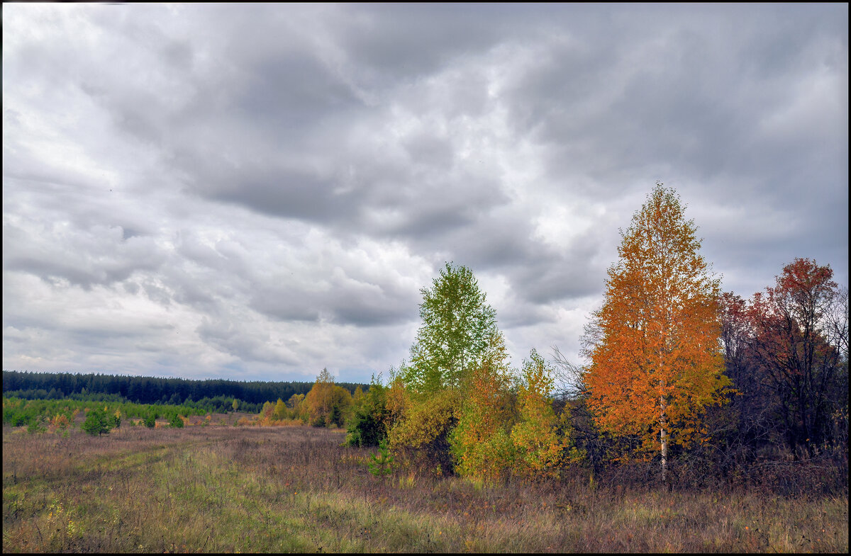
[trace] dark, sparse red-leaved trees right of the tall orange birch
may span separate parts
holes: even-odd
[[[848,288],[832,277],[830,266],[796,258],[750,300],[722,295],[726,372],[739,393],[719,434],[727,445],[847,456]]]

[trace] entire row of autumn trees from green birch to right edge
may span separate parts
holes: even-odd
[[[847,468],[847,289],[797,258],[749,301],[722,292],[685,208],[656,184],[621,232],[586,366],[533,349],[511,368],[471,269],[446,264],[420,291],[410,362],[357,396],[347,441],[477,482],[636,460],[665,480],[695,455],[727,473],[766,449]]]

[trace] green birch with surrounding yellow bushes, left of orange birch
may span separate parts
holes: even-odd
[[[354,409],[349,442],[377,445],[440,474],[479,482],[551,476],[580,457],[552,408],[552,369],[533,350],[508,363],[495,310],[471,269],[448,263],[420,291],[411,362],[374,383]]]

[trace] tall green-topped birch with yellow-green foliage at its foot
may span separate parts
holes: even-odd
[[[420,292],[422,325],[411,346],[411,364],[403,364],[388,391],[393,416],[388,445],[449,470],[478,458],[468,450],[484,453],[476,439],[491,428],[490,417],[479,419],[488,394],[473,396],[481,404],[471,401],[473,377],[505,369],[507,353],[496,311],[471,269],[447,263],[432,287]],[[463,430],[453,435],[464,418]]]

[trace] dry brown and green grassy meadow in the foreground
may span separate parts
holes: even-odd
[[[216,423],[217,419],[213,421]],[[3,427],[3,552],[848,552],[848,495],[477,487],[340,429]]]

